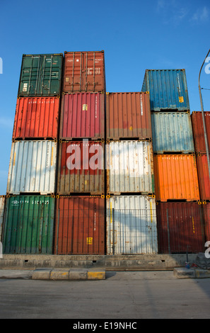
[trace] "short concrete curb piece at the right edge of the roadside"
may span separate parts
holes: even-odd
[[[186,269],[185,267],[175,268],[173,270],[176,278],[210,278],[209,269]]]

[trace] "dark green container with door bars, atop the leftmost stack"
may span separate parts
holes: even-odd
[[[63,55],[23,55],[18,96],[59,96]]]

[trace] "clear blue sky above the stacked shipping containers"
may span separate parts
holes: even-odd
[[[190,109],[200,111],[209,24],[207,0],[1,0],[0,195],[6,194],[23,54],[104,50],[106,88],[113,92],[141,91],[145,69],[185,68]],[[210,89],[205,68],[201,86]],[[210,111],[210,90],[202,96]]]

